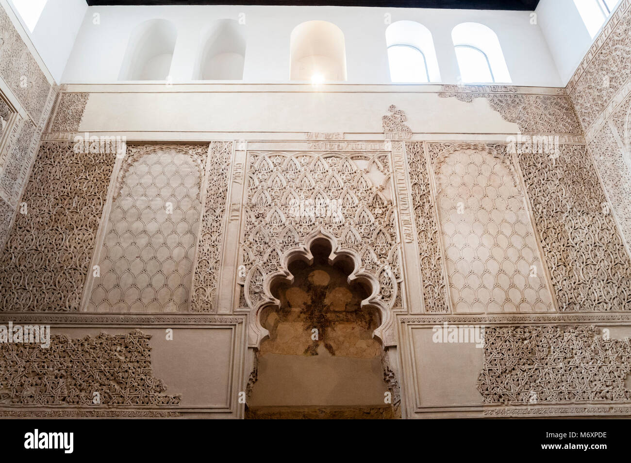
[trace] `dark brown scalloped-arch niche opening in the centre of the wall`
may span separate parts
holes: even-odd
[[[271,279],[276,305],[262,308],[269,336],[257,352],[257,380],[246,418],[396,418],[384,403],[384,349],[373,337],[380,311],[362,304],[370,282],[349,281],[355,262],[331,260],[327,239],[310,244],[312,258],[295,256],[290,277]]]

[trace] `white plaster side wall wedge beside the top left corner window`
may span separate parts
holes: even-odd
[[[13,11],[17,11],[11,0],[8,2]],[[29,32],[20,15],[16,15],[57,83],[61,83],[61,76],[87,9],[85,0],[48,0],[33,32]]]

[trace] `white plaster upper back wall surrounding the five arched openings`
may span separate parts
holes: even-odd
[[[93,23],[95,13],[100,17],[98,25]],[[559,87],[564,83],[541,28],[531,25],[530,14],[529,11],[332,6],[90,7],[62,81],[116,82],[133,28],[145,20],[164,18],[173,21],[178,30],[172,81],[192,82],[204,27],[216,19],[244,18],[247,37],[244,83],[288,83],[290,33],[295,26],[309,20],[331,21],[343,31],[347,83],[390,83],[385,31],[389,23],[411,20],[422,23],[432,32],[443,83],[457,83],[459,75],[452,28],[474,21],[497,33],[514,85]]]

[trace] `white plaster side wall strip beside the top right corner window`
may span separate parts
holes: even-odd
[[[574,0],[540,0],[535,13],[561,82],[567,85],[593,40]]]

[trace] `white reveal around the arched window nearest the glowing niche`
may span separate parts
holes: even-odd
[[[436,49],[434,48],[432,33],[427,27],[417,23],[416,21],[396,21],[396,23],[392,23],[386,29],[386,45],[389,50],[391,50],[391,47],[397,47],[399,45],[418,50],[418,52],[422,54],[422,59],[425,61],[424,64],[427,68],[425,70],[425,72],[427,72],[427,78],[425,80],[428,82],[440,82],[440,71],[438,67],[438,59],[436,57]],[[392,75],[392,68],[393,66],[396,66],[397,63],[392,62],[392,56],[390,53],[388,55],[392,81],[403,81],[396,80]]]

